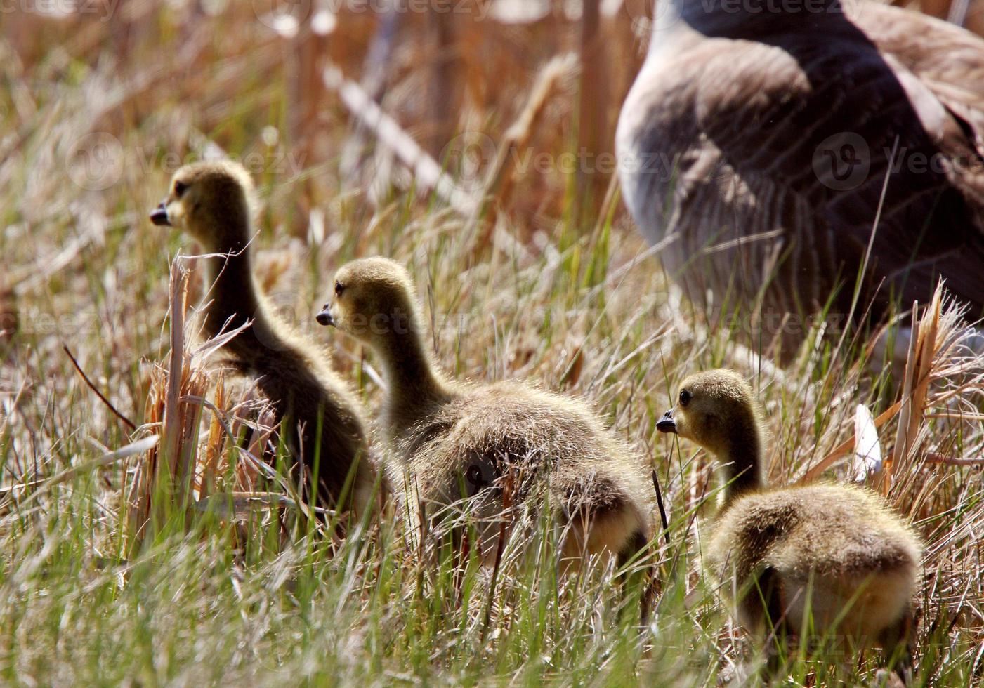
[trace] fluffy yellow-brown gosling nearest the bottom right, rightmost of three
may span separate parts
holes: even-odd
[[[725,485],[706,564],[738,621],[760,641],[773,627],[874,641],[904,677],[922,547],[885,500],[853,486],[767,487],[761,413],[732,371],[689,376],[656,428],[717,460]]]

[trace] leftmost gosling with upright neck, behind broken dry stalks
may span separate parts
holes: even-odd
[[[360,404],[326,363],[319,347],[283,322],[253,278],[253,181],[239,164],[200,162],[174,173],[167,197],[151,213],[156,225],[177,227],[199,241],[212,288],[206,296],[209,337],[251,324],[224,345],[242,373],[253,375],[281,421],[287,446],[317,475],[322,502],[338,503],[357,463],[354,504],[374,487]],[[346,500],[346,505],[348,500]]]

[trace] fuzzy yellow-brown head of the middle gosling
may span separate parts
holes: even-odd
[[[335,298],[318,314],[319,323],[334,325],[376,348],[394,335],[413,331],[418,321],[413,281],[389,258],[342,265],[335,275]]]

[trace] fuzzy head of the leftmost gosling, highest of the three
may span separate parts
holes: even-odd
[[[254,205],[253,180],[242,165],[196,162],[174,173],[151,221],[188,232],[211,253],[237,252],[251,238]]]

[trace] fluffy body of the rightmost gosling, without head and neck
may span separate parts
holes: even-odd
[[[773,576],[774,602],[790,632],[812,627],[884,642],[907,616],[919,557],[911,531],[880,496],[813,485],[735,500],[712,527],[707,570],[716,580],[734,579],[729,595],[756,577]],[[768,625],[756,591],[731,602],[746,628]]]

